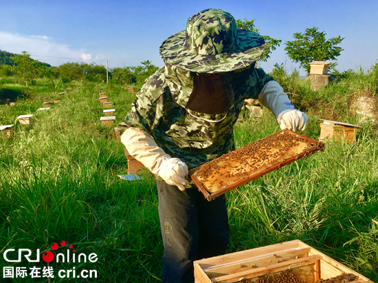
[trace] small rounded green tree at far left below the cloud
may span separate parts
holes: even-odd
[[[38,60],[30,60],[30,54],[23,51],[22,54],[16,54],[16,56],[10,57],[14,60],[14,73],[26,82],[26,86],[32,80],[38,78],[38,71],[36,69],[36,63]]]

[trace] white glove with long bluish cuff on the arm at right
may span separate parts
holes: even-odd
[[[304,131],[306,128],[309,118],[306,114],[294,109],[289,97],[275,80],[271,80],[265,84],[263,90],[258,95],[258,99],[263,106],[274,113],[282,130],[289,128],[291,131]]]

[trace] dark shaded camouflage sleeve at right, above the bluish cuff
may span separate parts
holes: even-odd
[[[243,99],[258,99],[258,95],[263,90],[265,84],[274,80],[261,68],[255,68],[252,75],[249,76],[245,82],[245,89],[243,91]]]

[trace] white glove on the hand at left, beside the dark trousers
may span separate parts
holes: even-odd
[[[154,174],[162,177],[168,185],[176,185],[179,190],[184,191],[188,185],[186,176],[189,174],[188,166],[179,158],[172,158],[169,155],[160,157],[157,163],[159,166],[154,170]],[[162,161],[162,162],[160,162]]]

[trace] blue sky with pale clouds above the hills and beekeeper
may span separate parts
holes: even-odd
[[[282,40],[266,63],[299,68],[285,54],[295,32],[318,27],[326,39],[344,37],[337,69],[370,69],[378,59],[377,0],[0,0],[0,49],[58,66],[96,63],[109,68],[137,66],[145,60],[162,67],[159,46],[186,29],[190,16],[207,8],[254,21],[260,34]],[[300,74],[304,70],[300,69]]]

